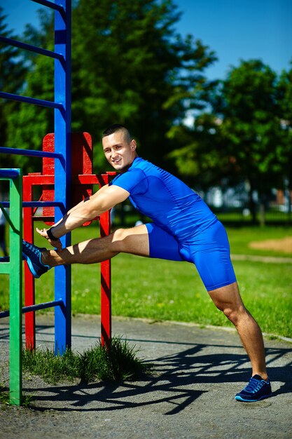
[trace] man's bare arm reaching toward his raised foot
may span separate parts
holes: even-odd
[[[118,203],[122,203],[125,201],[130,193],[121,187],[106,184],[106,186],[102,187],[95,194],[90,196],[81,203],[78,203],[74,208],[69,210],[59,222],[54,224],[50,231],[53,234],[55,241],[52,241],[47,234],[46,229],[36,229],[36,231],[43,236],[44,238],[49,239],[52,245],[56,247],[60,247],[60,245],[56,245],[56,242],[64,236],[76,229],[77,227],[82,226],[87,221],[97,217],[98,215],[102,215],[102,213],[107,210],[113,208],[114,205]]]

